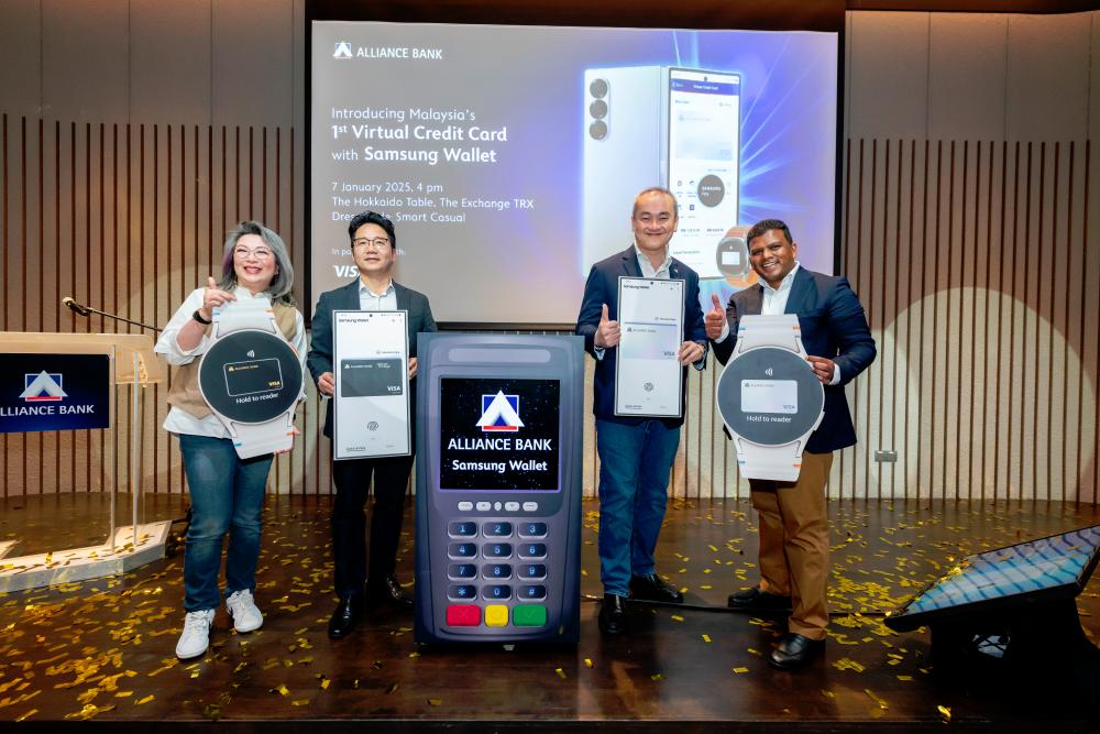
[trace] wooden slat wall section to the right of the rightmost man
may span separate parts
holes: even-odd
[[[843,270],[880,352],[838,494],[1097,502],[1090,163],[1087,141],[846,142]]]

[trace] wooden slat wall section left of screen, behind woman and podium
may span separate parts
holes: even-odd
[[[4,114],[0,138],[6,331],[142,331],[77,317],[61,305],[67,295],[163,326],[187,293],[220,269],[224,233],[241,219],[278,231],[302,280],[300,142],[289,127],[95,124]],[[147,492],[183,490],[178,447],[160,428],[165,388],[146,391],[141,417]],[[120,392],[120,487],[129,483],[130,409],[129,395]],[[305,435],[316,432],[316,412],[310,399],[299,415]],[[3,495],[101,490],[113,468],[105,441],[101,431],[4,436]],[[279,457],[272,491],[316,493],[315,453],[309,440]]]

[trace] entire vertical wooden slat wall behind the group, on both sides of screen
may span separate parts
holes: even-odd
[[[140,330],[75,317],[61,306],[66,295],[163,325],[219,266],[222,237],[243,218],[283,234],[304,282],[301,143],[292,128],[7,114],[0,127],[4,330]],[[1094,504],[1100,255],[1086,247],[1089,144],[856,139],[842,164],[842,271],[880,352],[848,387],[860,442],[838,454],[829,494]],[[713,409],[719,375],[712,364],[689,379],[678,497],[747,495]],[[147,492],[184,489],[178,447],[160,428],[164,391],[147,392],[142,415]],[[119,415],[129,409],[120,395]],[[270,491],[329,492],[322,418],[310,386],[302,440],[276,461]],[[125,486],[124,426],[120,439]],[[593,494],[591,416],[584,446]],[[99,432],[4,436],[2,449],[4,496],[101,491],[116,471]],[[898,461],[877,463],[877,449]]]

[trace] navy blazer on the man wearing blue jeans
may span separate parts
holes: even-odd
[[[576,316],[576,333],[584,337],[584,349],[593,357],[595,352],[596,327],[604,304],[607,304],[607,318],[618,319],[618,280],[619,276],[642,277],[638,265],[638,254],[634,244],[623,252],[601,260],[592,266],[588,281],[584,284],[584,299],[581,302],[581,313]],[[684,335],[683,341],[696,341],[703,344],[703,357],[695,362],[696,369],[706,366],[706,327],[703,325],[703,309],[698,305],[698,274],[675,258],[669,265],[669,276],[684,283]],[[593,382],[592,413],[600,420],[636,426],[647,418],[628,418],[615,415],[615,359],[618,350],[604,350],[604,358],[596,360],[596,376]],[[684,405],[688,397],[688,368],[680,371],[680,416],[679,418],[661,418],[664,425],[671,427],[683,424]]]

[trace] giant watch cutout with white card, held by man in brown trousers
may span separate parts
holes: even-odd
[[[806,440],[825,416],[825,388],[806,362],[799,317],[743,316],[715,393],[741,474],[796,481]]]

